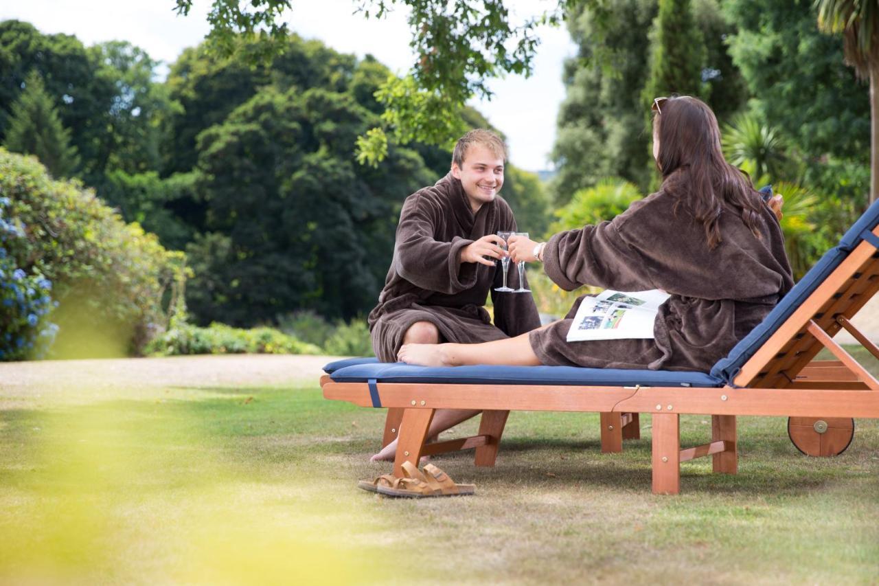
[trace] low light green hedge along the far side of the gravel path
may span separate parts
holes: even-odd
[[[175,322],[146,348],[148,355],[320,354],[320,348],[272,327],[239,329],[223,324],[198,327]]]

